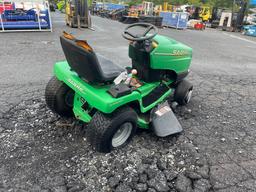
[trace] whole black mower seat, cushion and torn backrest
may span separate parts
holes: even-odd
[[[71,69],[90,83],[112,82],[124,69],[112,61],[97,56],[94,51],[78,45],[76,39],[60,37],[62,49]],[[87,44],[90,48],[90,46]]]

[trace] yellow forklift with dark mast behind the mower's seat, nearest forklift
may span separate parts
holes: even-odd
[[[66,24],[70,27],[90,28],[91,18],[89,15],[87,0],[65,0]]]

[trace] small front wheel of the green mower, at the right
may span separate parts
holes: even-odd
[[[192,91],[193,91],[193,85],[186,80],[182,80],[178,83],[175,89],[174,100],[179,105],[187,105],[191,99],[191,95],[189,95],[189,93],[191,92],[192,94]]]

